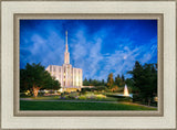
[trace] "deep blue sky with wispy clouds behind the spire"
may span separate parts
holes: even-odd
[[[20,20],[20,68],[40,62],[61,66],[66,30],[70,62],[83,78],[131,77],[135,61],[157,63],[156,20]]]

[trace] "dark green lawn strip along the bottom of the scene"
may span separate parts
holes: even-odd
[[[20,100],[20,110],[157,110],[156,108],[123,102],[67,102]]]

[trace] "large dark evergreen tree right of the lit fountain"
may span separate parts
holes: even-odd
[[[133,71],[133,86],[138,88],[138,95],[143,102],[150,105],[152,99],[157,95],[157,64],[145,64],[142,66],[137,61]]]

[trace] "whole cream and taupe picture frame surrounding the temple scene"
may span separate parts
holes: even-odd
[[[137,9],[137,7],[139,9]],[[146,1],[8,1],[8,0],[3,1],[2,0],[1,1],[1,117],[2,117],[1,128],[2,129],[133,129],[133,130],[171,129],[175,130],[176,129],[176,119],[175,119],[176,118],[175,115],[176,112],[176,95],[175,95],[176,94],[176,50],[175,50],[176,10],[175,8],[176,8],[176,1],[146,2]],[[158,111],[156,112],[154,111],[136,111],[136,112],[19,111],[18,86],[19,86],[19,20],[20,19],[157,19],[158,63],[160,68],[158,72],[158,93],[159,93]],[[170,43],[170,45],[167,43],[167,41]],[[7,88],[9,89],[7,90]],[[29,122],[31,122],[31,124]],[[70,122],[70,126],[67,124],[67,122]],[[103,122],[105,123],[103,124]]]

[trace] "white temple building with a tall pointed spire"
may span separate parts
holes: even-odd
[[[64,64],[62,66],[49,65],[46,71],[61,84],[61,91],[76,91],[82,87],[82,69],[74,68],[70,64],[70,53],[67,45],[67,31],[65,32]]]

